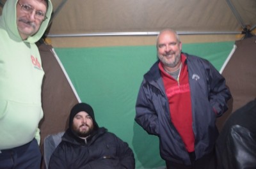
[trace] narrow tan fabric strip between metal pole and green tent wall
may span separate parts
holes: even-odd
[[[234,34],[180,35],[182,43],[236,41]],[[86,36],[47,38],[54,48],[122,47],[156,45],[156,36]]]

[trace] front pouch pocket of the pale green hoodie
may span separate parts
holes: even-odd
[[[43,116],[41,105],[15,101],[1,101],[0,103],[0,133],[4,135],[4,142],[0,141],[1,145],[19,146],[35,138],[38,122]]]

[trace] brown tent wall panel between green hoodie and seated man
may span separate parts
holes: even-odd
[[[44,139],[48,135],[64,131],[68,126],[71,108],[78,103],[76,95],[56,60],[52,47],[38,43],[45,76],[42,85],[42,108],[44,117],[40,121],[40,149],[44,156]],[[44,169],[45,163],[42,163]]]

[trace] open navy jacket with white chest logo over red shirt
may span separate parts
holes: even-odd
[[[185,55],[191,92],[195,154],[198,159],[214,149],[218,136],[216,117],[227,110],[227,100],[231,95],[225,85],[225,78],[209,61]],[[184,142],[170,119],[172,111],[169,110],[158,64],[159,61],[144,75],[136,102],[135,121],[148,134],[159,137],[161,158],[191,165]],[[186,104],[184,103],[184,106]]]

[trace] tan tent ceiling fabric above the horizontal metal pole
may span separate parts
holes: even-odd
[[[61,0],[52,1],[56,9]],[[253,0],[232,0],[248,25],[256,24]],[[49,34],[159,31],[239,31],[241,26],[226,1],[111,0],[67,1]]]

